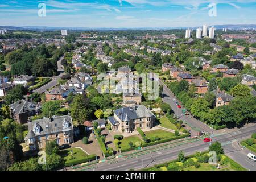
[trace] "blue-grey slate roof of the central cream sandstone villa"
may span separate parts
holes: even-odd
[[[121,109],[114,110],[114,114],[117,115],[121,121],[127,119],[138,119],[144,117],[152,117],[154,114],[148,110],[144,105],[135,105],[132,107],[123,107]]]

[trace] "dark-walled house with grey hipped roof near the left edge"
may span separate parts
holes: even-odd
[[[19,100],[9,105],[9,109],[11,118],[14,118],[20,124],[25,124],[28,122],[29,117],[40,114],[41,107],[32,102]]]

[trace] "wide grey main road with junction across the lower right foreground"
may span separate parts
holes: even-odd
[[[232,133],[225,133],[213,137],[213,142],[218,141],[222,144],[224,152],[227,153],[230,158],[240,163],[243,167],[256,171],[256,166],[253,160],[247,159],[247,150],[242,150],[241,147],[237,147],[237,142],[242,139],[250,137],[251,133],[256,130],[256,125],[250,127],[243,127],[242,129],[237,129]],[[197,141],[194,143],[188,143],[174,148],[169,148],[162,151],[152,152],[151,154],[146,154],[133,159],[117,159],[117,163],[108,164],[106,162],[97,164],[97,167],[92,170],[98,171],[121,171],[129,169],[142,169],[143,167],[154,166],[155,164],[160,164],[174,160],[177,158],[179,151],[183,150],[185,155],[195,154],[197,151],[208,150],[209,143],[204,143],[203,141]],[[143,166],[143,167],[142,167]]]

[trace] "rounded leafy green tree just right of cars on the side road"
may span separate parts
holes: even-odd
[[[202,117],[209,110],[209,104],[204,98],[197,98],[191,106],[191,113],[195,117]]]

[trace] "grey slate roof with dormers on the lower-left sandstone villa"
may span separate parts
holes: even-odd
[[[68,128],[63,129],[64,122],[68,122]],[[39,133],[35,133],[35,126],[38,126],[40,128]],[[32,133],[30,130],[32,131]],[[58,117],[53,116],[52,118],[43,118],[28,122],[28,131],[30,132],[27,134],[26,137],[29,138],[30,135],[33,135],[33,133],[35,136],[40,136],[46,134],[61,133],[70,130],[73,130],[73,122],[70,115],[63,115]]]

